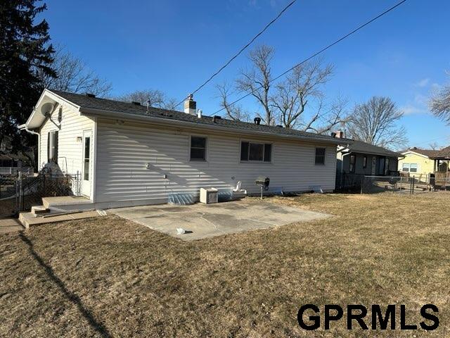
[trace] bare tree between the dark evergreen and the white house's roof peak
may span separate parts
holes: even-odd
[[[63,47],[58,47],[53,55],[53,69],[56,77],[39,72],[38,76],[44,85],[49,89],[61,90],[63,92],[95,94],[105,97],[111,91],[111,84],[98,77],[94,71],[89,70],[86,63],[75,56],[72,56]]]

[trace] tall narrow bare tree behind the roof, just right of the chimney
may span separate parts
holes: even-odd
[[[269,97],[272,79],[270,63],[274,58],[274,49],[271,46],[257,46],[250,51],[248,58],[252,62],[252,68],[240,71],[236,87],[241,92],[251,94],[261,104],[264,114],[260,118],[266,125],[275,125]]]

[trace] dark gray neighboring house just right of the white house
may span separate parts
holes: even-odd
[[[374,146],[362,141],[343,138],[342,132],[337,138],[352,144],[338,146],[338,163],[336,165],[336,186],[360,187],[362,177],[398,175],[397,165],[399,153],[381,146]]]

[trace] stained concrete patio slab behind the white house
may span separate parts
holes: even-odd
[[[110,209],[108,213],[187,241],[330,217],[325,213],[257,200],[191,206],[135,206]],[[176,234],[177,227],[186,233]]]

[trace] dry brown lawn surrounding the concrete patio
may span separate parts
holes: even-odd
[[[197,242],[115,217],[1,236],[0,336],[373,337],[344,320],[304,332],[297,310],[406,304],[418,324],[435,303],[438,330],[376,336],[450,337],[449,194],[270,202],[335,217]]]

